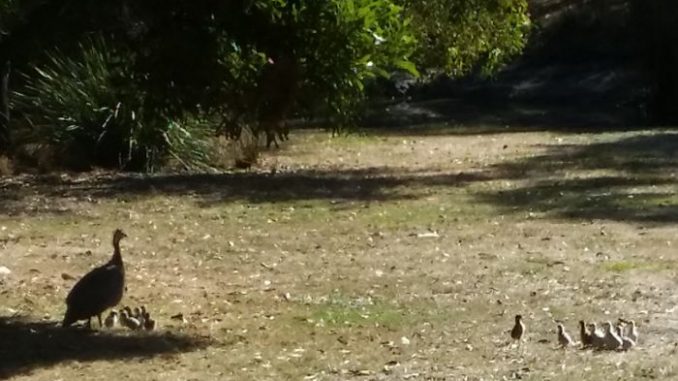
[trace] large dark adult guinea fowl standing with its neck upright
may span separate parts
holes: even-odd
[[[92,317],[120,303],[125,290],[125,266],[120,255],[120,240],[127,237],[122,230],[113,232],[113,257],[108,263],[87,273],[73,286],[66,297],[66,315],[62,325],[68,327],[78,320],[87,319],[92,328]]]

